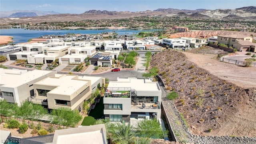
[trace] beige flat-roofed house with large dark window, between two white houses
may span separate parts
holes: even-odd
[[[84,101],[90,98],[93,88],[102,83],[105,83],[105,79],[101,77],[56,74],[34,83],[35,96],[29,100],[48,106],[49,109],[67,107],[75,110],[82,108]]]

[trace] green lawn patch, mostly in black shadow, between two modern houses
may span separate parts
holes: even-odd
[[[84,117],[82,122],[82,126],[90,126],[96,122],[97,119],[100,119],[103,114],[104,104],[103,104],[103,97],[100,98],[100,102],[96,104],[95,108],[90,111],[89,115]]]

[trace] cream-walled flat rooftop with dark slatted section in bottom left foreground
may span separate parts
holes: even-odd
[[[10,131],[0,130],[0,134],[1,144],[10,143]],[[13,141],[20,144],[108,144],[105,124],[60,129],[54,134],[15,138]]]

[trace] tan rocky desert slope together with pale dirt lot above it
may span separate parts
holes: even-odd
[[[231,80],[244,76],[245,72],[253,74],[255,68],[238,68],[233,64],[218,62],[214,59],[216,52],[212,52],[189,53],[187,58],[188,52],[166,50],[152,57],[151,66],[158,68],[158,75],[166,90],[170,92],[173,89],[179,94],[173,102],[184,115],[193,134],[255,137],[256,88],[243,88]],[[204,68],[206,66],[207,70]],[[232,72],[234,74],[228,79],[222,79],[225,71],[221,71],[222,75],[216,71],[222,69],[233,70],[226,70],[226,76]],[[251,77],[255,78],[255,73]],[[253,83],[254,80],[248,78],[248,82]],[[212,132],[208,132],[211,128]]]

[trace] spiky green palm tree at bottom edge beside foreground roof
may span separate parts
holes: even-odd
[[[115,144],[131,144],[136,141],[134,127],[129,124],[117,123],[115,128],[109,130],[110,139]]]

